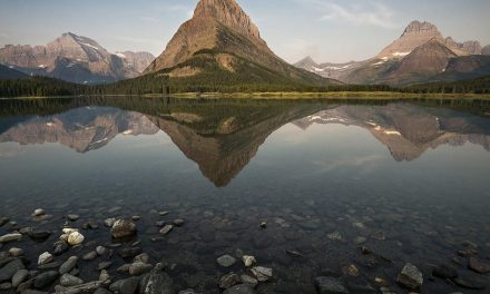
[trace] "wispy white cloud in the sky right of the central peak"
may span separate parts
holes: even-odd
[[[322,16],[321,21],[336,21],[354,26],[374,26],[385,29],[398,28],[395,12],[379,1],[321,1],[303,0],[314,4]]]

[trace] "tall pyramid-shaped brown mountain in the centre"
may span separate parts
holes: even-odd
[[[295,68],[267,47],[258,28],[235,0],[200,0],[164,52],[145,74],[222,84],[334,82]]]

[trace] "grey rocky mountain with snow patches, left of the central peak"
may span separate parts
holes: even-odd
[[[78,84],[111,82],[139,75],[130,61],[108,52],[92,39],[71,32],[47,46],[7,45],[0,49],[0,63],[27,75]]]

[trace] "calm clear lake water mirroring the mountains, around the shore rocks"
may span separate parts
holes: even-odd
[[[395,281],[406,263],[423,273],[423,293],[486,293],[489,275],[468,261],[490,263],[489,109],[421,100],[1,100],[0,217],[17,224],[0,235],[55,232],[1,249],[23,248],[35,268],[67,214],[80,215],[72,227],[99,227],[82,229],[84,245],[55,261],[114,246],[104,219],[137,215],[138,235],[121,246],[139,241],[153,264],[168,265],[177,291],[220,293],[223,275],[249,271],[216,258],[245,254],[273,268],[258,293],[316,293],[317,276],[351,293],[378,293],[376,277],[406,293]],[[52,217],[33,219],[39,207]],[[156,222],[177,218],[185,224],[159,234]],[[79,262],[80,277],[97,280],[106,259]],[[128,276],[116,271],[122,258],[110,261],[114,280]],[[431,277],[441,264],[487,288]]]

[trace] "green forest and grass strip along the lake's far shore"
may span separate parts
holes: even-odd
[[[0,80],[0,97],[47,96],[174,96],[174,97],[233,97],[233,98],[489,98],[490,76],[473,80],[434,82],[405,88],[386,85],[326,85],[308,86],[278,77],[259,65],[236,59],[236,72],[223,69],[209,52],[200,52],[179,67],[205,68],[190,77],[170,78],[167,69],[108,85],[85,86],[47,77]],[[242,74],[239,74],[242,72]],[[247,72],[247,74],[243,74]]]

